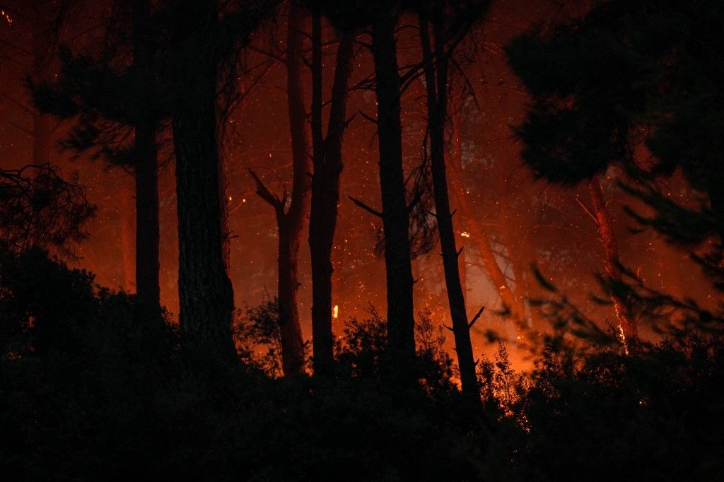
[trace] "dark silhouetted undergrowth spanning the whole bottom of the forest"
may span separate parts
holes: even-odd
[[[487,423],[476,424],[429,314],[419,317],[421,383],[411,389],[384,377],[386,323],[374,310],[345,324],[334,377],[270,376],[244,354],[252,342],[273,342],[274,311],[269,300],[237,326],[247,343],[241,358],[252,366],[210,376],[179,356],[173,326],[144,318],[134,297],[99,288],[92,275],[41,250],[3,253],[4,480],[717,480],[723,473],[718,336],[691,331],[628,355],[620,345],[551,338],[531,377],[513,370],[500,344],[493,360],[479,363],[485,411],[476,417]]]

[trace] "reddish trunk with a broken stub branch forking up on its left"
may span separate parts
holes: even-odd
[[[299,244],[308,209],[311,166],[308,159],[308,135],[302,77],[304,21],[306,15],[292,2],[287,34],[287,105],[292,137],[292,195],[287,209],[287,193],[271,194],[253,172],[258,195],[266,200],[277,216],[279,229],[279,332],[282,338],[282,368],[286,376],[304,372],[304,344],[299,323],[298,257]],[[331,308],[330,308],[331,309]]]

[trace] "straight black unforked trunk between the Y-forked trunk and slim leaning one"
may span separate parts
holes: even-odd
[[[372,55],[376,75],[379,183],[382,188],[384,265],[387,271],[388,350],[391,370],[404,379],[413,376],[415,320],[395,20],[390,12],[382,12],[376,18],[372,26]]]

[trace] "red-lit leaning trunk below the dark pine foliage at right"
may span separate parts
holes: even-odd
[[[598,224],[598,230],[601,234],[603,248],[606,253],[606,273],[610,282],[620,284],[623,280],[621,278],[620,260],[618,258],[618,245],[616,244],[616,238],[613,234],[613,228],[611,227],[611,221],[608,216],[606,202],[603,198],[601,182],[598,177],[594,177],[589,181],[589,192],[591,194],[594,216]],[[636,326],[636,320],[633,318],[633,314],[631,313],[631,306],[628,305],[626,300],[616,293],[615,286],[611,289],[611,301],[613,301],[613,308],[616,312],[616,317],[618,318],[620,327],[623,330],[623,335],[626,339],[635,340],[639,334]]]

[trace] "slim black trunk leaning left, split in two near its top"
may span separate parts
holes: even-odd
[[[458,355],[460,380],[466,397],[480,402],[476,363],[470,339],[470,327],[465,306],[463,287],[458,271],[458,251],[455,245],[455,229],[452,226],[450,198],[447,193],[447,175],[445,174],[445,123],[447,120],[447,52],[445,48],[444,26],[438,20],[434,22],[435,52],[433,56],[428,21],[420,16],[420,39],[425,67],[425,85],[427,88],[427,113],[430,138],[430,158],[432,162],[432,182],[435,197],[435,217],[442,249],[442,266],[445,271],[447,301],[450,304],[452,334],[455,337],[455,353]],[[480,313],[478,313],[478,316]],[[473,323],[477,318],[473,319]]]

